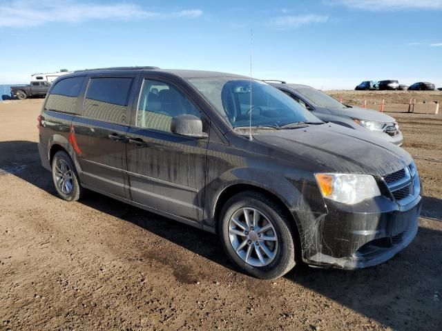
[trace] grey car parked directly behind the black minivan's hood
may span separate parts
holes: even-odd
[[[399,130],[398,123],[387,114],[376,110],[347,106],[310,86],[273,82],[271,85],[285,92],[322,121],[336,123],[361,132],[369,132],[374,139],[385,139],[385,141],[390,141],[397,146],[401,146],[403,143],[403,135]]]

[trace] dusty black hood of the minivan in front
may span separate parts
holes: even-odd
[[[312,172],[385,176],[412,162],[410,154],[393,143],[332,123],[271,130],[253,134],[253,137],[288,153],[287,161],[300,168],[309,167]]]

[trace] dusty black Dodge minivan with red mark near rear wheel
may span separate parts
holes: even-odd
[[[249,77],[155,67],[66,74],[38,117],[62,199],[93,190],[218,234],[261,279],[298,262],[365,268],[416,236],[410,154],[320,121]]]

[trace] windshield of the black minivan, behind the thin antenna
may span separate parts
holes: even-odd
[[[320,119],[277,88],[262,81],[231,77],[191,78],[193,85],[233,128],[322,123]],[[251,93],[251,102],[250,102]]]

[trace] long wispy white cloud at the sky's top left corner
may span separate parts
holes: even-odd
[[[78,23],[91,19],[195,18],[202,10],[149,11],[134,3],[87,3],[73,0],[16,0],[0,5],[0,27],[39,26],[44,23]]]

